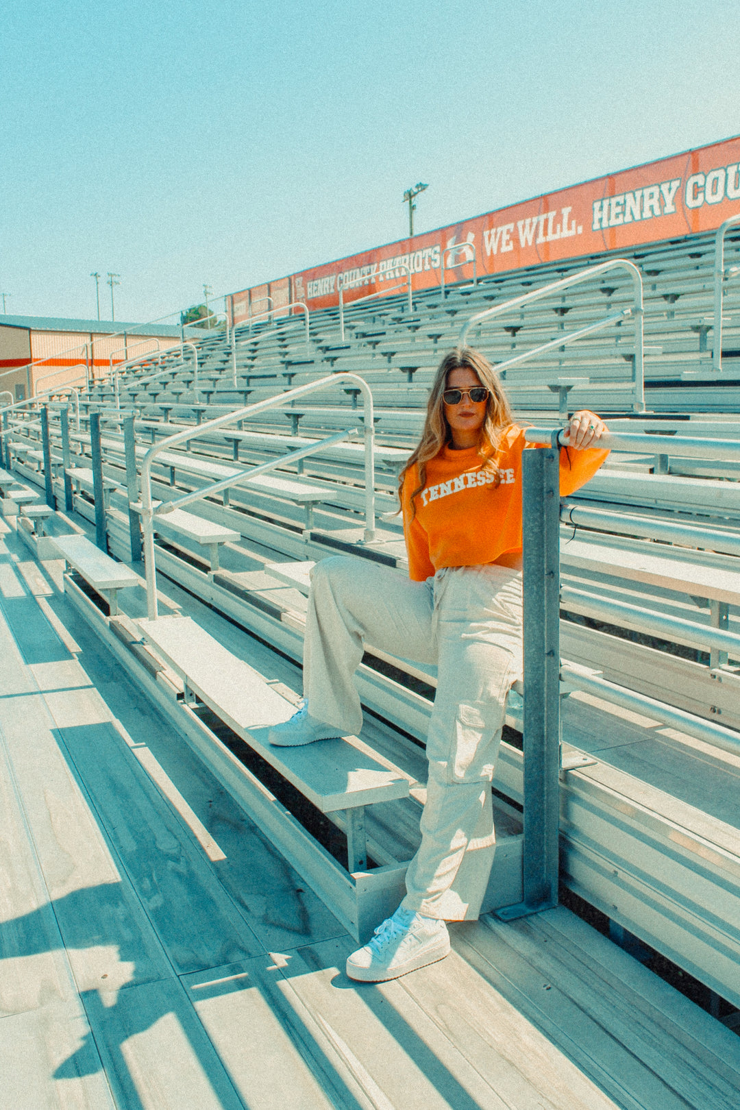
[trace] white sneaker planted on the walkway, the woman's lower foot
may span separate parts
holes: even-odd
[[[347,975],[364,982],[397,979],[427,963],[442,960],[449,952],[449,934],[444,921],[423,917],[401,906],[364,948],[347,957]]]

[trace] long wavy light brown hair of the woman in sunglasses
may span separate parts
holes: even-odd
[[[409,455],[406,465],[398,476],[398,500],[401,500],[401,491],[406,473],[414,464],[417,465],[419,484],[410,497],[412,519],[416,513],[414,500],[422,492],[426,483],[426,464],[435,455],[438,455],[444,446],[452,443],[452,428],[445,416],[443,393],[447,389],[447,375],[453,370],[472,370],[480,384],[485,385],[488,390],[486,418],[480,428],[480,437],[478,440],[478,452],[485,460],[484,468],[488,465],[488,461],[498,447],[501,432],[514,422],[501,383],[486,356],[480,354],[479,351],[474,351],[473,347],[455,347],[453,351],[449,351],[439,363],[432,390],[429,391],[422,438]]]

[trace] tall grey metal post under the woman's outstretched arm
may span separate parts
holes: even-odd
[[[560,806],[559,453],[523,456],[524,860],[523,901],[504,920],[557,906]]]

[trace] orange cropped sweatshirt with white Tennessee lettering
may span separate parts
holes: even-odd
[[[524,430],[509,425],[489,461],[478,447],[443,447],[426,464],[424,488],[418,468],[404,476],[402,506],[408,573],[424,582],[443,566],[475,566],[521,553],[521,454],[534,447]],[[596,474],[608,451],[560,448],[560,493],[574,493]]]

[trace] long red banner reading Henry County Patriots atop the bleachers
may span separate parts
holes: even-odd
[[[268,306],[308,309],[402,293],[713,231],[740,212],[740,137],[545,193],[232,294],[240,324]],[[286,294],[290,290],[290,294]],[[296,310],[293,310],[296,311]],[[263,317],[264,319],[264,317]]]

